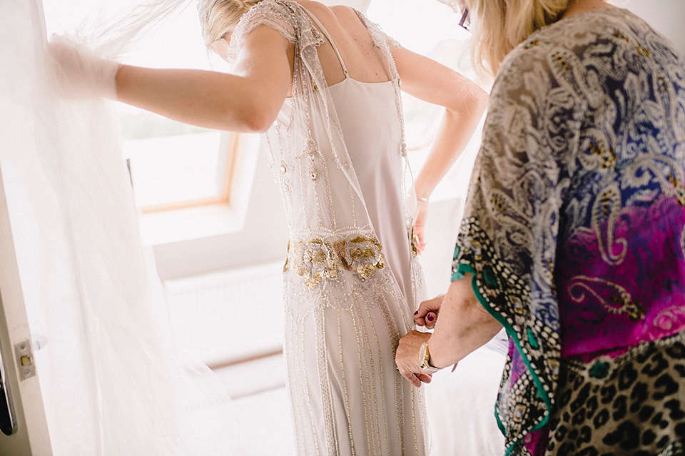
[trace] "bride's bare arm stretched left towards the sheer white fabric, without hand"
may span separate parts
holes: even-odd
[[[184,123],[228,131],[265,131],[292,83],[293,45],[268,26],[245,36],[233,74],[123,65],[117,98]]]

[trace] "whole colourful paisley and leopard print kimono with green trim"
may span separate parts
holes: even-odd
[[[509,334],[507,454],[681,454],[685,64],[669,41],[603,9],[504,59],[453,273]]]

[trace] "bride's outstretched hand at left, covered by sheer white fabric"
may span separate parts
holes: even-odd
[[[121,64],[56,34],[50,37],[48,54],[48,71],[53,72],[56,90],[64,98],[116,99],[116,72]]]

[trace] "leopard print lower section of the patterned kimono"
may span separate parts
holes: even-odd
[[[685,455],[685,333],[591,363],[564,360],[547,455]]]

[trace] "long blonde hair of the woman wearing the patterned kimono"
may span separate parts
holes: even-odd
[[[504,56],[534,31],[559,20],[573,0],[466,0],[477,19],[475,61],[496,74]]]

